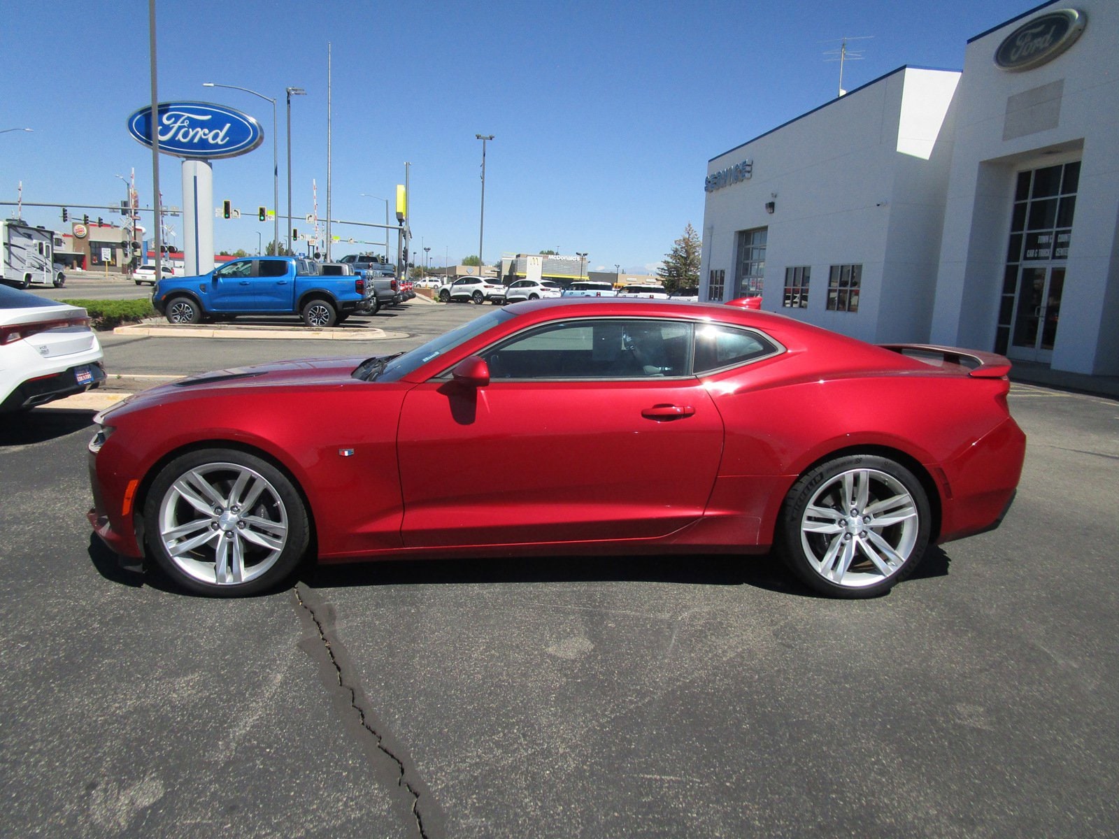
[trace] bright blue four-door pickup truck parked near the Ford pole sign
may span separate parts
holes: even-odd
[[[322,329],[376,311],[373,283],[364,276],[323,276],[299,256],[250,256],[200,276],[167,276],[156,284],[151,302],[171,323],[298,314]]]

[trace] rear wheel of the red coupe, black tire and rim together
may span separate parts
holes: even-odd
[[[905,466],[869,454],[836,458],[789,490],[775,548],[815,591],[874,597],[916,568],[930,518],[924,488]]]

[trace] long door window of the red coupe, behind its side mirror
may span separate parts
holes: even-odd
[[[660,320],[553,323],[482,353],[491,379],[632,379],[687,374],[692,326]]]

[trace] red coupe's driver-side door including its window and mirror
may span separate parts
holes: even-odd
[[[656,333],[659,358],[628,347],[639,328]],[[413,388],[397,446],[404,545],[650,539],[698,519],[723,423],[684,375],[690,332],[664,320],[548,324],[483,351],[486,387],[444,375]]]

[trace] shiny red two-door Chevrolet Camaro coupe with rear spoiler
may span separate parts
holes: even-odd
[[[90,520],[214,595],[307,556],[773,549],[865,597],[1002,520],[1025,455],[1008,370],[736,307],[518,303],[403,355],[130,397],[96,417]]]

